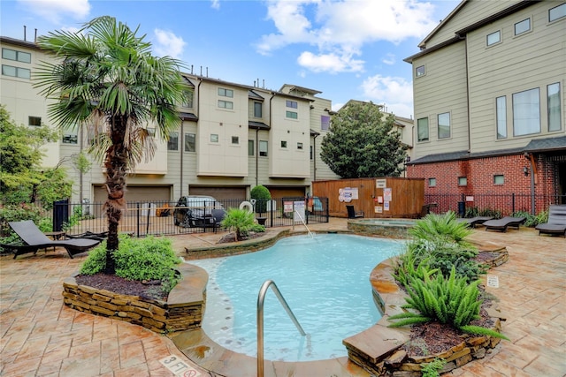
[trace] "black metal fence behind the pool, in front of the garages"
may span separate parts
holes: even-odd
[[[108,230],[103,203],[53,203],[53,227],[67,234],[102,233]],[[283,198],[278,200],[191,200],[178,202],[128,202],[119,224],[119,231],[134,237],[172,235],[215,231],[218,229],[212,211],[218,208],[246,208],[266,228],[292,226],[296,223],[328,222],[328,198]],[[215,213],[215,215],[218,212]],[[194,221],[187,221],[192,216]]]

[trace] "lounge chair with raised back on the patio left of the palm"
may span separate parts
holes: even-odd
[[[20,254],[37,253],[39,249],[47,247],[65,247],[69,257],[83,253],[100,244],[100,240],[88,238],[73,238],[64,240],[51,240],[45,236],[31,220],[23,222],[8,222],[11,229],[21,238],[23,245],[2,245],[14,253],[14,259]]]

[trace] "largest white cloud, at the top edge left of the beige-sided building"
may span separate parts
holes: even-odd
[[[363,69],[358,66],[362,60],[345,63],[360,55],[364,44],[423,37],[437,24],[433,10],[431,3],[415,0],[272,0],[267,19],[277,33],[263,35],[256,49],[268,55],[289,44],[309,44],[316,51],[302,52],[297,61],[310,71],[327,72],[332,59],[342,63],[342,71],[336,72],[358,71]],[[391,61],[388,57],[384,63]]]

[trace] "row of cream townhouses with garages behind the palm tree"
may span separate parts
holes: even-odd
[[[33,87],[34,67],[49,61],[34,42],[0,37],[0,102],[17,124],[50,124],[49,101]],[[316,179],[337,178],[321,161],[318,146],[329,131],[332,102],[321,92],[283,85],[279,90],[241,85],[183,73],[192,91],[179,104],[182,122],[168,140],[156,138],[156,153],[129,172],[128,201],[171,201],[206,194],[221,199],[249,198],[256,185],[273,198],[309,195]],[[149,132],[152,131],[148,124]],[[65,166],[73,179],[72,202],[106,199],[100,163],[86,173],[73,157],[86,151],[93,134],[86,127],[63,130],[44,146],[46,167]]]

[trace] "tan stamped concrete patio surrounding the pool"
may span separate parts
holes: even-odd
[[[314,232],[346,228],[346,219],[310,227]],[[213,245],[224,234],[172,240],[183,253],[185,247]],[[499,288],[489,290],[500,299],[508,318],[502,331],[511,342],[501,342],[486,358],[448,375],[566,375],[566,239],[539,237],[535,230],[524,228],[507,233],[478,229],[471,238],[508,246],[509,261],[490,271]],[[63,279],[77,271],[85,258],[80,254],[71,260],[63,249],[17,260],[0,257],[0,375],[172,376],[160,362],[171,355],[195,371],[187,375],[215,375],[184,357],[166,336],[63,305]],[[326,376],[322,370],[319,375]]]

